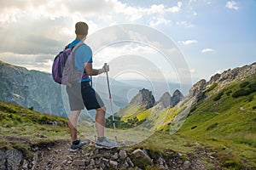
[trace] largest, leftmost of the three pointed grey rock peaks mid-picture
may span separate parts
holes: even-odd
[[[138,94],[131,99],[131,103],[134,105],[145,105],[146,109],[154,106],[154,96],[148,89],[141,89]]]

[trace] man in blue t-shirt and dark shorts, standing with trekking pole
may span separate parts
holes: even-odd
[[[96,94],[96,91],[90,86],[89,77],[109,71],[109,66],[103,66],[102,69],[94,69],[92,67],[91,49],[88,45],[83,43],[88,34],[88,29],[89,27],[85,22],[76,23],[76,39],[68,45],[69,48],[73,48],[77,44],[82,43],[82,45],[74,49],[74,65],[79,71],[85,70],[87,76],[79,82],[73,83],[71,87],[67,86],[67,94],[71,109],[68,121],[68,127],[72,139],[72,144],[70,146],[71,151],[79,150],[85,144],[88,144],[79,140],[77,135],[79,114],[81,110],[84,109],[84,105],[87,110],[96,110],[96,148],[112,149],[115,147],[115,144],[104,136],[106,107],[104,106],[100,96]]]

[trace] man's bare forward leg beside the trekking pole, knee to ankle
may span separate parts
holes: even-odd
[[[104,129],[105,129],[105,114],[106,114],[106,107],[102,106],[101,108],[96,109],[96,130],[97,130],[97,137],[103,138],[104,137]]]

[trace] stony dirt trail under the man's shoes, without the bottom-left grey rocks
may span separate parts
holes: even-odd
[[[35,169],[206,169],[200,160],[183,160],[181,153],[173,152],[170,157],[158,156],[153,159],[150,151],[136,149],[127,151],[96,149],[94,143],[84,146],[77,152],[69,151],[69,143],[62,141],[38,149],[38,164]]]

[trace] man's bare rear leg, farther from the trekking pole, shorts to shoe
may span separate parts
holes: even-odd
[[[78,120],[81,111],[71,111],[68,119],[68,127],[72,142],[78,139]]]

